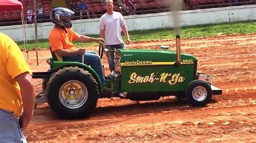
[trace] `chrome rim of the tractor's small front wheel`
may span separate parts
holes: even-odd
[[[196,101],[204,101],[207,97],[207,90],[202,86],[197,86],[193,89],[192,96]]]

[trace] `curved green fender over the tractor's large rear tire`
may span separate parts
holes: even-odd
[[[92,74],[93,78],[96,79],[96,81],[98,83],[99,92],[100,92],[100,94],[102,94],[102,92],[103,92],[102,81],[100,80],[99,75],[96,73],[96,71],[93,70],[90,66],[87,66],[80,62],[52,61],[51,69],[53,72],[56,72],[59,69],[62,69],[64,67],[78,67],[78,68],[83,68],[83,69],[89,71],[89,73]]]

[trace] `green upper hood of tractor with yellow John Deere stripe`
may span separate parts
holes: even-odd
[[[150,65],[152,62],[177,62],[176,51],[157,50],[157,49],[119,49],[120,62],[131,65]],[[186,53],[181,53],[181,64],[197,62],[197,59]],[[169,65],[166,63],[166,65]]]

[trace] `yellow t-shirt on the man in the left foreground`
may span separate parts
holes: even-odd
[[[22,112],[21,90],[14,78],[29,72],[21,49],[7,35],[0,33],[0,109],[14,112],[16,117]]]

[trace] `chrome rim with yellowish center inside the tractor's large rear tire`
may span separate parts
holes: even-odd
[[[71,80],[65,82],[59,90],[60,102],[69,109],[78,109],[85,104],[88,91],[82,82]]]

